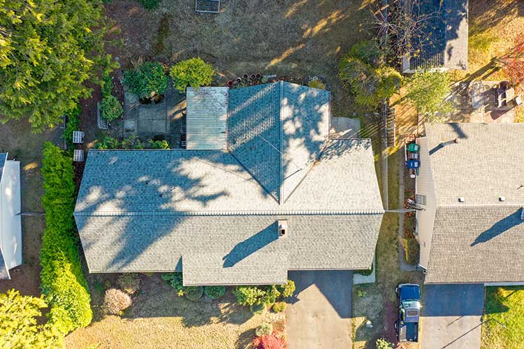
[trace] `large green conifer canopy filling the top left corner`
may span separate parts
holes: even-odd
[[[0,0],[0,121],[43,131],[89,96],[84,82],[110,62],[101,20],[99,0]]]

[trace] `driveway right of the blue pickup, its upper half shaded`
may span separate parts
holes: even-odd
[[[480,349],[484,286],[425,285],[421,349]]]

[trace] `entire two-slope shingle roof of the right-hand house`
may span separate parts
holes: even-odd
[[[437,198],[425,283],[524,281],[524,124],[425,133]]]

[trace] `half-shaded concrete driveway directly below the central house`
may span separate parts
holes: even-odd
[[[347,270],[289,272],[296,297],[286,309],[289,349],[351,349],[351,286]]]

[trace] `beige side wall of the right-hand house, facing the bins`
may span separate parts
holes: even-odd
[[[433,180],[430,155],[428,149],[428,139],[418,138],[416,144],[420,146],[421,167],[419,175],[415,179],[415,193],[425,195],[425,210],[416,211],[416,236],[419,240],[420,259],[419,265],[428,268],[430,257],[431,238],[433,235],[433,225],[435,223],[435,213],[437,211],[437,198],[435,196],[435,181]]]

